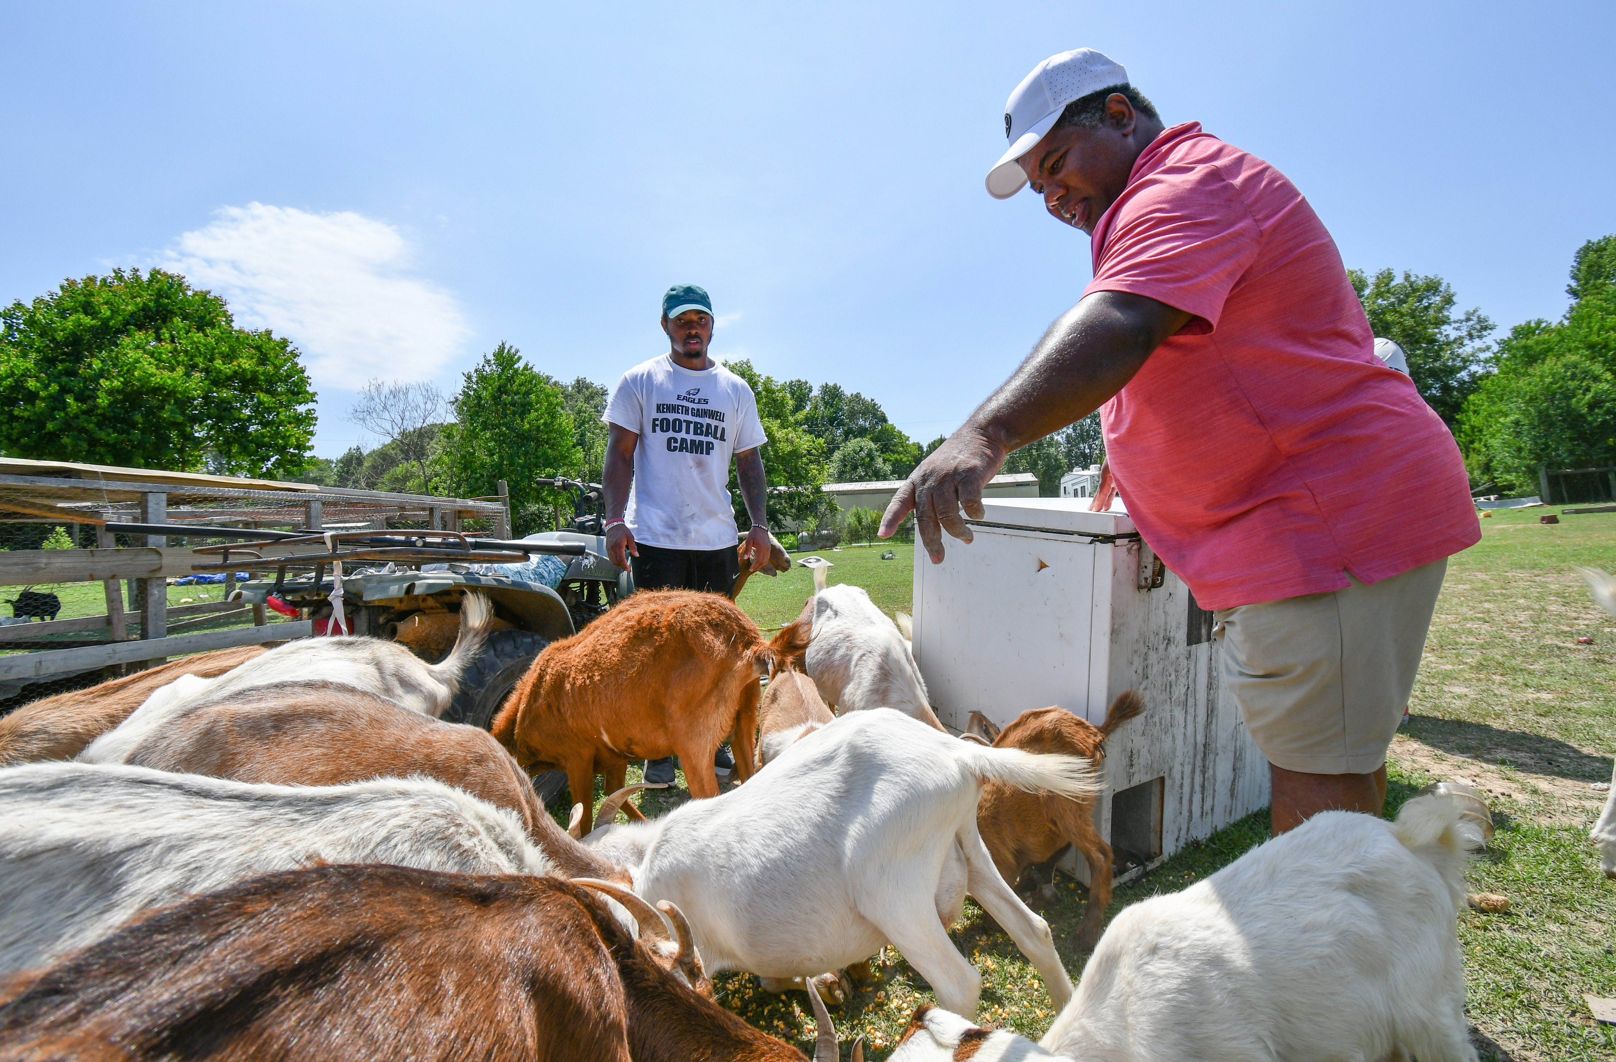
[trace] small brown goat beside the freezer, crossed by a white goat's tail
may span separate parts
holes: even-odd
[[[1144,700],[1133,690],[1112,702],[1100,726],[1060,708],[1036,708],[1023,711],[992,744],[994,748],[1054,752],[1097,761],[1105,755],[1105,739],[1141,711]],[[1105,921],[1105,905],[1110,904],[1112,879],[1112,850],[1094,829],[1094,805],[986,782],[983,800],[976,805],[976,828],[994,857],[994,866],[1012,884],[1023,870],[1055,858],[1068,844],[1083,853],[1089,865],[1089,905],[1078,925],[1076,944],[1094,947]]]

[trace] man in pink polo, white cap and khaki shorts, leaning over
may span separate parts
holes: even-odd
[[[1446,558],[1480,538],[1453,436],[1374,336],[1319,217],[1269,163],[1164,128],[1078,48],[1005,107],[987,175],[1092,238],[1094,281],[887,508],[932,563],[1005,456],[1094,409],[1144,540],[1215,613],[1273,829],[1378,813]],[[963,508],[963,516],[962,516]]]

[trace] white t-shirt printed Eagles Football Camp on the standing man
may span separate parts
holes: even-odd
[[[635,542],[735,548],[729,459],[769,441],[745,380],[722,365],[684,369],[663,354],[622,373],[601,420],[640,435],[624,512]]]

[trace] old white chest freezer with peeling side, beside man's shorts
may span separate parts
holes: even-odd
[[[1267,807],[1269,761],[1223,685],[1212,614],[1126,512],[1088,504],[984,501],[971,545],[945,537],[942,564],[916,548],[915,660],[955,731],[1049,705],[1099,726],[1138,690],[1144,714],[1105,742],[1096,821],[1120,865],[1149,866]]]

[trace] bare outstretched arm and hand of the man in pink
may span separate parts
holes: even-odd
[[[1015,373],[910,474],[881,519],[881,537],[889,538],[913,511],[921,545],[939,564],[939,527],[971,540],[960,509],[981,519],[983,487],[1012,449],[1099,409],[1189,318],[1165,302],[1120,291],[1097,291],[1062,314]]]

